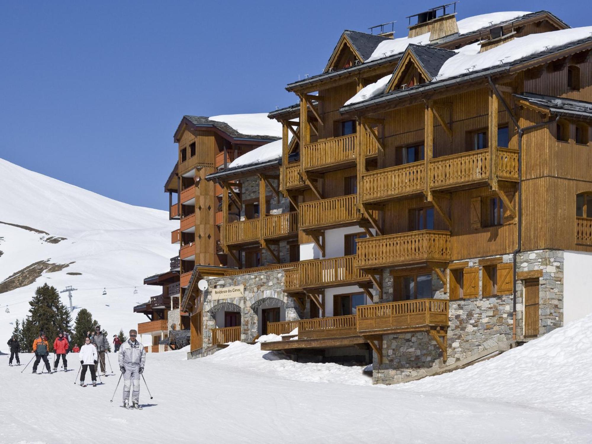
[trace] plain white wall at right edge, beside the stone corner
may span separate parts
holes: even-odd
[[[564,324],[592,313],[592,253],[564,252]]]

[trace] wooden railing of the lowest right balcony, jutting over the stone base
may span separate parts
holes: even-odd
[[[358,332],[448,326],[448,300],[417,299],[385,304],[358,305]]]

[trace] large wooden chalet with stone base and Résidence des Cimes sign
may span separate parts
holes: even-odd
[[[261,348],[392,384],[592,311],[592,27],[453,7],[344,31],[281,142],[203,176],[227,262],[187,275],[192,356],[283,334]]]

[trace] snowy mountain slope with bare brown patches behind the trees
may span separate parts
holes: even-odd
[[[124,204],[2,159],[0,190],[0,222],[49,233],[0,224],[0,282],[39,260],[70,264],[44,272],[27,287],[0,293],[0,338],[8,339],[10,323],[26,316],[28,301],[45,282],[59,290],[67,285],[78,288],[73,304],[88,308],[111,334],[146,320],[133,313],[133,306],[156,295],[159,288],[143,286],[143,279],[166,271],[169,259],[178,254],[170,244],[170,231],[178,223],[169,221],[166,211]],[[66,239],[46,242],[51,236]],[[81,275],[67,274],[72,272]],[[61,296],[68,304],[67,294]],[[0,342],[0,349],[5,343]]]

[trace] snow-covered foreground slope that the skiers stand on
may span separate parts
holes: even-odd
[[[141,411],[119,407],[121,385],[109,402],[118,375],[81,388],[75,372],[21,374],[2,355],[0,442],[590,443],[591,321],[389,387],[371,385],[361,367],[295,363],[259,345],[232,343],[194,361],[185,349],[151,353],[145,376],[153,399],[142,382]]]

